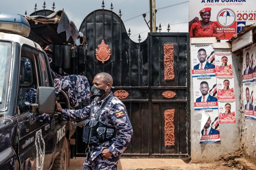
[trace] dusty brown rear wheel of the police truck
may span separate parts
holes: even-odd
[[[64,145],[59,153],[59,155],[55,158],[53,164],[53,170],[67,170],[68,165],[68,145],[66,138],[64,139]]]

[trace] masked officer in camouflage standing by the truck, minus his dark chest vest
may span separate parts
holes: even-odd
[[[95,120],[98,111],[101,110],[98,121],[118,131],[116,136],[106,142],[88,144],[89,151],[82,170],[116,170],[118,160],[131,140],[133,130],[127,110],[125,105],[114,97],[110,91],[112,84],[113,80],[109,74],[97,74],[93,79],[91,88],[92,94],[97,97],[94,98],[94,101],[89,106],[83,109],[62,109],[61,105],[56,101],[57,110],[62,113],[64,120],[86,118]],[[104,104],[104,102],[107,103]],[[101,105],[105,105],[103,109]]]

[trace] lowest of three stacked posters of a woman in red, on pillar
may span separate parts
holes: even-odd
[[[218,100],[219,123],[236,123],[235,100]]]

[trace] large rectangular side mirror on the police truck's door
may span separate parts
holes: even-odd
[[[55,88],[38,87],[36,104],[39,113],[52,114],[55,111]]]

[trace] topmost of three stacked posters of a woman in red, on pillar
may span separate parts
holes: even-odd
[[[232,76],[231,52],[215,52],[215,74],[216,76]]]

